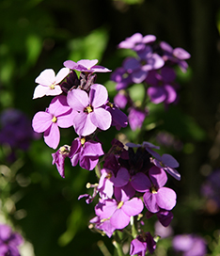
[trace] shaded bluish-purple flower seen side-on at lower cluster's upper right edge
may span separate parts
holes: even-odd
[[[164,153],[161,157],[153,159],[153,163],[156,167],[163,168],[176,180],[181,181],[181,174],[176,170],[179,168],[179,163],[172,155]]]

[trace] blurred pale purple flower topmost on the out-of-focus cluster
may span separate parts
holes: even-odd
[[[145,48],[145,45],[156,40],[153,35],[147,35],[143,37],[140,33],[135,33],[132,37],[121,41],[118,44],[118,48],[133,49],[134,51],[140,51]]]

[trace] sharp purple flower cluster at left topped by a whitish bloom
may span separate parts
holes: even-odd
[[[127,117],[115,104],[108,100],[107,89],[95,83],[95,72],[110,72],[96,65],[97,59],[67,60],[56,75],[51,69],[36,78],[33,99],[44,95],[55,96],[45,111],[36,113],[32,120],[35,132],[43,133],[45,143],[56,149],[60,141],[59,128],[74,128],[75,137],[71,146],[61,146],[53,153],[53,164],[64,178],[64,160],[71,159],[73,167],[93,169],[103,155],[102,144],[97,138],[100,131],[111,126],[119,130],[127,126]],[[77,77],[76,72],[81,72]]]

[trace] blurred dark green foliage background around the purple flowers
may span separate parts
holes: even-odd
[[[188,72],[178,72],[180,103],[165,112],[152,106],[148,124],[163,120],[143,140],[167,132],[182,143],[180,151],[165,148],[180,162],[181,182],[171,180],[178,194],[173,227],[175,232],[204,236],[213,254],[214,233],[220,230],[219,210],[209,208],[200,186],[212,169],[220,166],[220,2],[217,0],[1,0],[0,1],[0,110],[14,107],[31,120],[44,110],[50,97],[32,100],[35,78],[44,69],[58,72],[71,59],[99,59],[115,70],[125,52],[121,40],[134,33],[153,34],[171,46],[191,54]],[[109,73],[98,74],[110,97],[114,84]],[[137,96],[138,96],[138,90]],[[125,133],[131,140],[135,133]],[[104,150],[118,132],[104,133]],[[61,131],[62,143],[71,144],[72,129]],[[106,138],[107,137],[107,138]],[[105,143],[105,144],[104,144]],[[97,241],[111,251],[111,239],[87,229],[94,205],[77,200],[95,183],[94,173],[66,165],[66,179],[52,166],[43,139],[34,140],[28,152],[18,151],[9,164],[1,149],[1,219],[9,220],[33,245],[33,255],[102,255]],[[8,167],[8,168],[7,168]],[[220,183],[220,182],[219,182]],[[113,251],[113,250],[112,250]],[[32,256],[30,252],[25,254]],[[164,253],[164,254],[163,254]],[[166,251],[155,255],[166,255]]]

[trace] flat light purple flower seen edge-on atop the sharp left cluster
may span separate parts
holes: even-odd
[[[77,62],[72,60],[67,60],[63,63],[66,68],[71,70],[75,70],[78,72],[111,72],[110,70],[96,65],[98,63],[98,59],[81,59]]]

